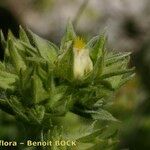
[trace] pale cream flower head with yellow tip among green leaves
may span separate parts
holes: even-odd
[[[93,70],[93,63],[89,56],[89,49],[85,48],[83,39],[77,37],[73,45],[74,78],[81,79],[85,74]]]

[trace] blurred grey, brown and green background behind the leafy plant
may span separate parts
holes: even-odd
[[[116,149],[150,149],[150,1],[149,0],[1,0],[0,29],[18,36],[19,25],[59,44],[68,19],[85,39],[104,33],[108,49],[132,51],[136,76],[109,108],[121,121]],[[3,50],[0,45],[0,58]],[[0,97],[3,95],[1,94]],[[12,116],[0,111],[0,139],[20,136]]]

